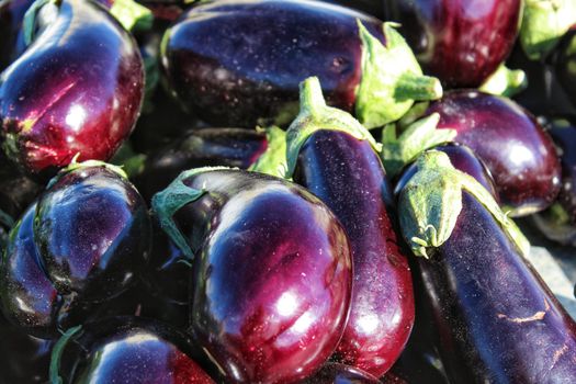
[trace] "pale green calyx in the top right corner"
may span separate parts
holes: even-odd
[[[526,0],[520,44],[528,58],[545,57],[575,23],[574,0]]]

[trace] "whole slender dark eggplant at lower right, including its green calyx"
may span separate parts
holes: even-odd
[[[425,153],[398,210],[454,383],[568,383],[576,323],[523,258],[529,244],[474,178]]]

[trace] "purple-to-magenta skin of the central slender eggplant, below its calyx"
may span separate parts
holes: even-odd
[[[335,358],[381,376],[410,335],[414,293],[386,211],[393,197],[379,155],[368,140],[317,131],[302,146],[293,179],[336,214],[352,247],[351,309]]]

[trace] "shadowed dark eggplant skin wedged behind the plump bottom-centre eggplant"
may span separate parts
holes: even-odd
[[[187,169],[215,166],[247,169],[267,147],[266,134],[255,129],[191,129],[150,154],[144,165],[144,172],[135,179],[135,184],[149,201]]]

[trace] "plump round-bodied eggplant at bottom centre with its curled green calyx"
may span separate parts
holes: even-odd
[[[329,358],[348,317],[352,261],[317,197],[268,174],[204,168],[181,173],[153,207],[195,255],[190,329],[226,382],[295,382]]]

